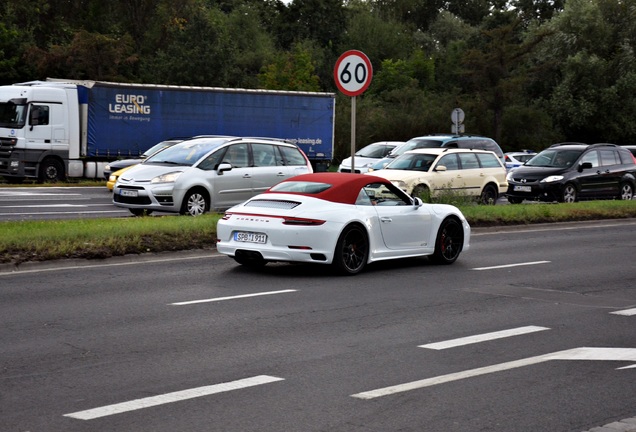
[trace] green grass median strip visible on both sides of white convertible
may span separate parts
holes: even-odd
[[[636,218],[636,201],[484,206],[459,204],[473,227]],[[75,219],[0,223],[0,263],[126,254],[215,246],[220,214],[199,217]]]

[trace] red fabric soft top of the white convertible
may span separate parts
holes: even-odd
[[[326,201],[343,204],[355,204],[360,189],[370,183],[382,183],[391,185],[389,180],[366,174],[321,172],[313,174],[301,174],[291,177],[283,182],[314,182],[327,183],[331,187],[319,193],[279,192],[267,190],[265,193],[284,193],[290,195],[304,195],[320,198]]]

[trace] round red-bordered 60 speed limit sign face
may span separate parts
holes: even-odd
[[[349,50],[338,58],[333,77],[342,93],[347,96],[358,96],[371,84],[373,67],[366,54],[358,50]]]

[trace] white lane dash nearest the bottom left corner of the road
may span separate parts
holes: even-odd
[[[202,396],[209,396],[215,393],[222,393],[231,390],[243,389],[262,384],[268,384],[276,381],[283,381],[284,378],[277,378],[267,375],[259,375],[252,378],[245,378],[237,381],[231,381],[221,384],[214,384],[205,387],[198,387],[189,390],[182,390],[173,393],[166,393],[159,396],[151,396],[142,399],[135,399],[128,402],[122,402],[113,405],[107,405],[100,408],[93,408],[86,411],[78,411],[70,414],[64,414],[64,417],[72,417],[80,420],[92,420],[99,417],[106,417],[114,414],[121,414],[127,411],[135,411],[142,408],[149,408],[157,405],[163,405],[172,402],[179,402],[186,399],[193,399]]]

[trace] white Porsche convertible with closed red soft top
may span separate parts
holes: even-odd
[[[383,178],[315,173],[227,210],[217,237],[217,250],[246,266],[333,264],[353,275],[395,258],[451,264],[468,250],[470,226],[456,207],[422,203]]]

